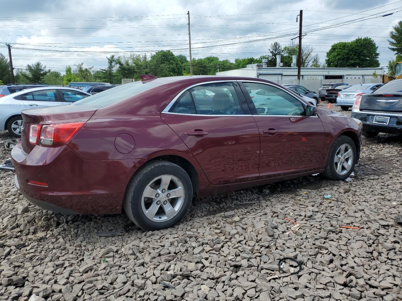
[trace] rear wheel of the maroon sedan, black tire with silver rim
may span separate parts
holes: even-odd
[[[154,231],[180,222],[192,199],[193,185],[183,168],[168,161],[153,161],[130,181],[123,207],[134,224]]]

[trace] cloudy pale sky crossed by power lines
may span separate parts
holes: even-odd
[[[274,41],[291,45],[302,9],[303,43],[315,48],[320,61],[333,43],[371,37],[386,66],[394,57],[389,31],[402,20],[402,1],[393,0],[14,0],[7,5],[0,17],[0,52],[8,56],[5,43],[10,43],[14,68],[41,61],[62,73],[80,62],[106,67],[112,54],[170,49],[188,57],[188,10],[195,58],[234,61],[267,54]]]

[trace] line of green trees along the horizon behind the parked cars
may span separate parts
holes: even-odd
[[[402,51],[402,39],[399,43]],[[326,53],[325,61],[320,62],[314,47],[305,45],[301,49],[301,65],[302,67],[379,67],[377,49],[377,45],[369,37],[358,38],[350,42],[338,42],[333,44]],[[228,59],[221,60],[216,56],[193,58],[193,74],[215,75],[218,71],[240,69],[249,64],[261,63],[263,59],[268,60],[268,67],[275,67],[277,55],[281,55],[283,67],[291,67],[292,56],[298,55],[298,45],[282,47],[280,43],[274,42],[266,55],[239,58],[235,59],[234,62]],[[66,71],[62,75],[59,71],[47,69],[38,61],[32,65],[28,64],[25,69],[16,69],[14,74],[16,83],[67,85],[70,81],[96,81],[113,84],[121,83],[123,78],[139,80],[141,74],[152,74],[157,77],[190,75],[190,62],[185,55],[174,55],[169,50],[161,50],[151,56],[139,54],[111,55],[107,57],[107,67],[97,70],[94,67],[84,67],[84,63],[80,63],[66,66]],[[1,53],[0,81],[2,83],[11,82],[10,64]]]

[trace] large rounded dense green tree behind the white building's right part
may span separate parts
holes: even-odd
[[[338,42],[327,52],[325,62],[328,67],[379,67],[377,49],[373,39],[368,37],[357,38],[351,42]]]

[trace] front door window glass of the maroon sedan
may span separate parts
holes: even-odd
[[[278,87],[262,83],[243,83],[258,115],[304,116],[303,104]]]

